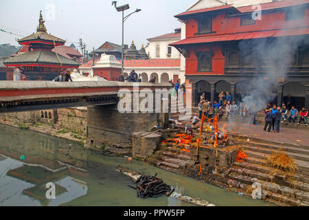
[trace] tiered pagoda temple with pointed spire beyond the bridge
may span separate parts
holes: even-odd
[[[3,64],[19,68],[25,80],[52,80],[66,69],[78,68],[78,62],[57,53],[55,47],[65,45],[65,41],[47,34],[42,11],[38,21],[36,33],[18,41],[20,45],[28,45],[28,51],[6,59]]]

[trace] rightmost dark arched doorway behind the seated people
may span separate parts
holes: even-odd
[[[300,83],[287,83],[283,87],[282,100],[284,104],[290,107],[295,106],[296,109],[301,110],[305,106],[306,87]],[[290,104],[288,104],[290,102]]]

